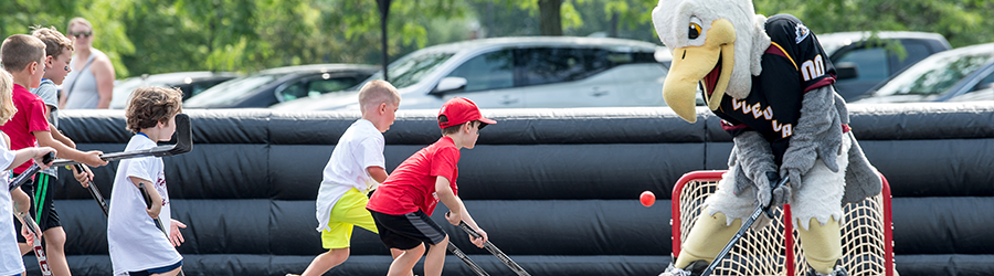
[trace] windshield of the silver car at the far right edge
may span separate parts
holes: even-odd
[[[991,52],[932,56],[887,82],[874,96],[943,94],[991,60]]]

